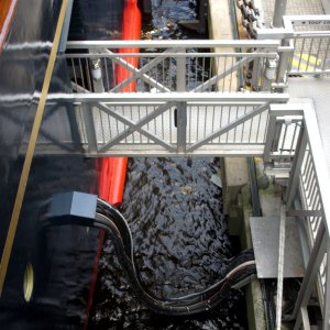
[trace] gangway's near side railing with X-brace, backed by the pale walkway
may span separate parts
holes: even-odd
[[[276,94],[72,94],[69,102],[89,156],[262,155]]]

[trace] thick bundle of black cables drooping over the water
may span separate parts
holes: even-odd
[[[190,316],[218,306],[231,287],[256,273],[254,254],[248,250],[232,258],[223,277],[205,290],[186,296],[161,299],[144,288],[133,253],[132,234],[124,217],[117,208],[98,199],[95,227],[105,229],[113,240],[117,255],[139,298],[152,311],[168,316]]]

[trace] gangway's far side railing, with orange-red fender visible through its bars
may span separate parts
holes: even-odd
[[[277,41],[69,42],[63,56],[79,92],[122,92],[130,84],[140,92],[229,92],[243,87],[238,76],[246,74],[255,90],[266,89],[274,78],[266,63],[276,61],[278,46]],[[132,58],[139,58],[136,67]]]

